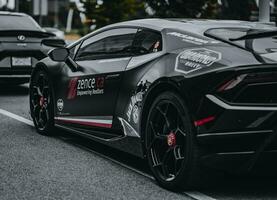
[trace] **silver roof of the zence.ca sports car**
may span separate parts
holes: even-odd
[[[140,19],[133,21],[120,22],[108,27],[116,26],[139,26],[162,31],[163,29],[178,29],[201,34],[212,28],[249,28],[249,29],[276,29],[271,24],[259,22],[248,22],[238,20],[210,20],[210,19]]]

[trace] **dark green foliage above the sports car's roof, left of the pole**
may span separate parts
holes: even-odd
[[[255,0],[81,0],[96,28],[136,18],[249,20]],[[147,12],[146,12],[147,10]]]

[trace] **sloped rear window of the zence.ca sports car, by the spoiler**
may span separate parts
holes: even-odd
[[[207,36],[217,38],[229,44],[234,44],[258,54],[271,61],[277,61],[277,33],[270,37],[260,37],[260,33],[277,31],[276,28],[257,30],[249,28],[217,28],[210,29],[205,34]],[[253,34],[257,33],[257,37],[253,38]],[[234,40],[247,35],[252,35],[250,39]]]

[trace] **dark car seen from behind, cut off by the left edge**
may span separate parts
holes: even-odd
[[[64,40],[45,32],[30,16],[0,12],[0,82],[29,82],[32,69]]]

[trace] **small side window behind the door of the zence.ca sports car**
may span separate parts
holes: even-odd
[[[141,29],[136,34],[133,46],[136,55],[162,51],[162,35],[157,31]]]

